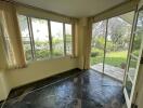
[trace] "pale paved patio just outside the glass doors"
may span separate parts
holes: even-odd
[[[99,72],[103,72],[103,64],[93,65],[91,68]],[[105,64],[104,73],[122,82],[125,77],[125,69]]]

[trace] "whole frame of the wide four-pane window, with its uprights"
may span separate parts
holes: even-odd
[[[17,17],[21,15],[26,17],[26,22],[28,25],[30,46],[31,46],[31,59],[29,59],[29,60],[26,59],[27,64],[32,63],[35,60],[46,60],[46,59],[53,59],[53,58],[72,57],[74,55],[74,43],[75,42],[74,42],[74,24],[73,23],[65,23],[65,22],[58,22],[58,21],[48,19],[48,18],[42,18],[42,17],[27,16],[27,15],[23,15],[23,14],[17,14]],[[35,49],[35,39],[34,39],[34,29],[32,29],[31,18],[39,18],[39,19],[47,21],[48,31],[49,31],[50,57],[40,58],[40,59],[36,58],[36,49]],[[63,52],[64,53],[62,56],[54,56],[53,55],[53,42],[52,42],[51,23],[50,22],[62,23],[62,25],[63,25],[63,28],[62,28],[63,32],[62,33],[63,33],[63,44],[64,44],[64,51]],[[18,21],[18,24],[20,24],[20,21]],[[66,24],[72,25],[72,44],[70,44],[72,54],[67,54],[67,50],[66,50],[67,49],[67,46],[66,46],[66,29],[65,29]]]

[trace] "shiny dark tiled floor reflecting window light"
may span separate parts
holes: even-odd
[[[125,104],[120,82],[94,70],[73,73],[48,84],[46,80],[44,84],[30,84],[23,92],[17,89],[3,108],[121,108]]]

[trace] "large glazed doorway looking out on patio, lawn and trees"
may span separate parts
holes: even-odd
[[[91,68],[123,81],[134,11],[92,25]]]

